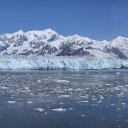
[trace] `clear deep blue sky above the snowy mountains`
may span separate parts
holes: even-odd
[[[0,34],[47,28],[96,40],[128,37],[128,0],[0,0]]]

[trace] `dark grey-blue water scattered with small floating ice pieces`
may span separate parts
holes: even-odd
[[[0,128],[128,128],[128,70],[1,71]]]

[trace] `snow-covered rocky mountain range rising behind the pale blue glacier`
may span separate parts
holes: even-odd
[[[28,32],[20,30],[0,35],[0,55],[128,59],[128,38],[119,36],[109,42],[79,35],[64,37],[51,29]]]

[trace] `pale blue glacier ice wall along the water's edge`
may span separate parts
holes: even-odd
[[[0,56],[0,70],[86,70],[128,67],[128,60],[62,56]]]

